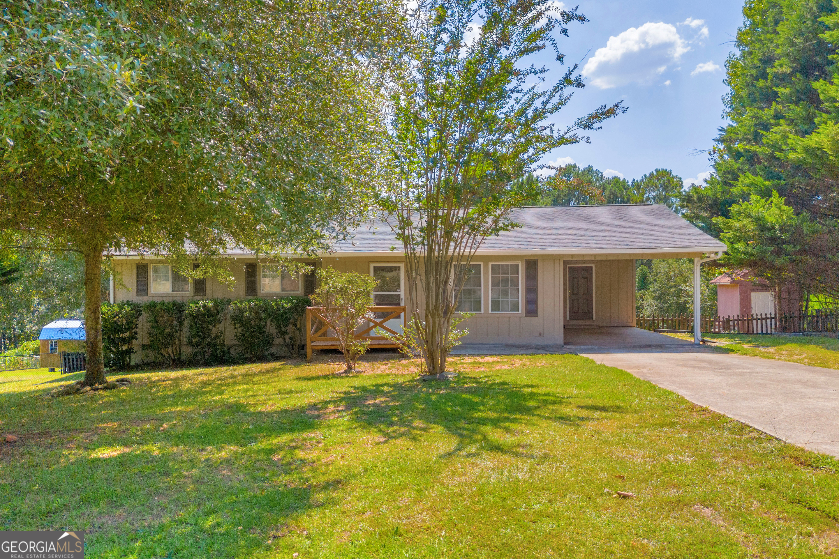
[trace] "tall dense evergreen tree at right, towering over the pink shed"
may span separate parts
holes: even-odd
[[[839,292],[837,7],[831,0],[745,4],[737,51],[727,60],[731,90],[723,101],[731,124],[711,150],[716,173],[681,200],[688,219],[716,236],[734,238],[743,230],[739,218],[729,219],[735,204],[777,210],[778,197],[783,199],[802,217],[795,220],[798,229],[786,233],[796,240],[795,257],[755,261],[732,251],[721,262],[753,267],[772,282],[785,277],[810,292]],[[755,202],[753,195],[766,204]],[[770,237],[757,242],[767,246]],[[786,253],[789,246],[778,248]],[[783,267],[773,264],[781,261]]]

